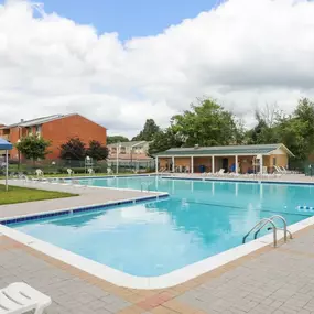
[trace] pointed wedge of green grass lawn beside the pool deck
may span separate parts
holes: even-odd
[[[6,186],[0,184],[0,205],[62,198],[69,196],[77,196],[77,194],[18,186],[9,186],[9,191],[6,192]]]

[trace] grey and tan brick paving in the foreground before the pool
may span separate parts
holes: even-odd
[[[0,288],[24,281],[50,295],[45,314],[314,313],[314,227],[183,284],[113,285],[0,236]]]

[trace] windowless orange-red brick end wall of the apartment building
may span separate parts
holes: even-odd
[[[59,147],[71,138],[78,137],[88,145],[90,140],[96,140],[102,144],[107,143],[106,128],[79,116],[74,115],[58,120],[54,120],[42,126],[42,137],[51,140],[51,154],[46,159],[54,160],[59,156]]]

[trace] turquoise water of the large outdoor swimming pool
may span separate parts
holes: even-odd
[[[261,218],[289,225],[314,214],[314,186],[178,181],[84,180],[83,184],[169,192],[170,198],[12,225],[100,263],[139,277],[169,273],[241,245]]]

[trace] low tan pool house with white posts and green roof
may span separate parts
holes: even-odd
[[[155,154],[159,171],[203,173],[272,173],[288,167],[293,153],[284,144],[173,148]]]

